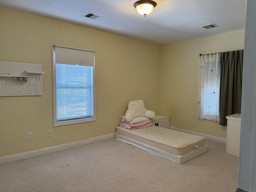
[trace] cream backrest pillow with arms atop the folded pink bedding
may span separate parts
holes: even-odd
[[[142,100],[134,100],[129,102],[128,110],[125,113],[125,120],[127,122],[132,122],[134,118],[138,117],[154,119],[156,114],[153,111],[147,110]]]

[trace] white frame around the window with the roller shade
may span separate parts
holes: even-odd
[[[54,45],[56,46],[56,45]],[[66,46],[59,46],[62,48],[71,48]],[[78,49],[78,48],[72,48],[77,50],[84,50],[84,49]],[[84,50],[84,51],[90,51],[94,52],[92,50]],[[70,119],[70,120],[62,120],[57,121],[57,106],[56,106],[56,55],[55,55],[55,49],[52,49],[52,93],[53,93],[53,126],[64,126],[64,125],[70,125],[70,124],[78,124],[78,123],[84,123],[84,122],[92,122],[96,121],[96,94],[95,94],[95,55],[94,55],[94,66],[92,66],[92,74],[93,74],[93,116],[88,118],[79,118],[79,119]]]

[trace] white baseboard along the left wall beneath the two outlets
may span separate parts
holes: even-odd
[[[96,142],[104,141],[104,140],[108,140],[108,139],[113,139],[113,138],[115,138],[114,133],[95,137],[95,138],[90,138],[90,139],[86,139],[86,140],[82,140],[82,141],[77,141],[77,142],[62,144],[62,145],[58,145],[58,146],[43,148],[43,149],[39,149],[39,150],[4,156],[4,157],[0,157],[0,164],[9,163],[9,162],[13,162],[16,160],[26,159],[26,158],[35,157],[35,156],[45,155],[45,154],[58,152],[58,151],[66,150],[66,149],[71,149],[71,148],[88,145],[88,144],[92,144],[92,143],[96,143]]]

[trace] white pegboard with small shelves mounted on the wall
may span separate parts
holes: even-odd
[[[0,61],[0,96],[43,94],[42,64]]]

